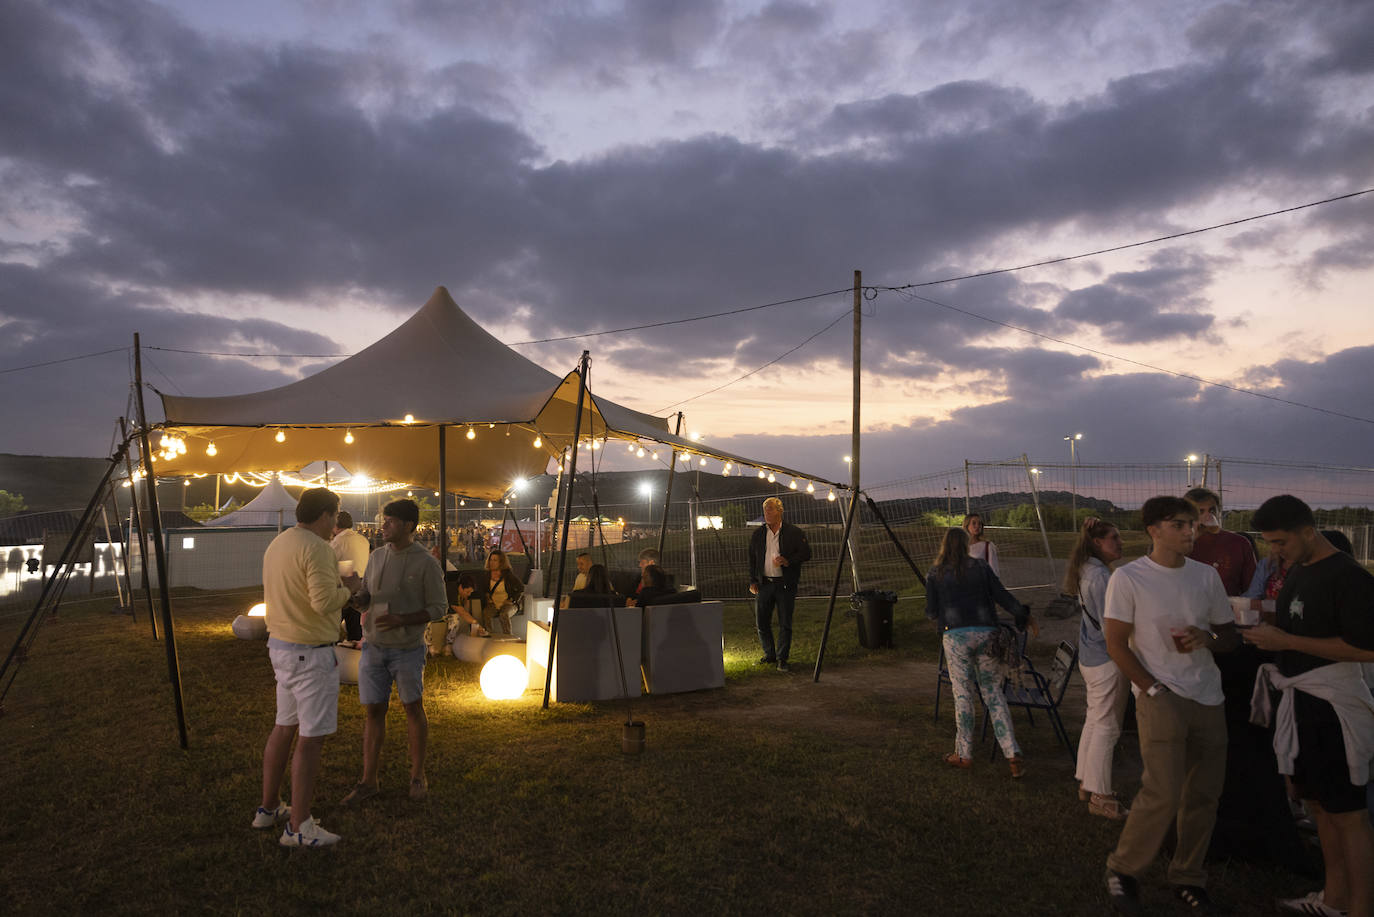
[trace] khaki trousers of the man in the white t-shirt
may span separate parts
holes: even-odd
[[[1169,884],[1205,885],[1202,858],[1226,778],[1226,712],[1221,704],[1206,707],[1169,692],[1135,700],[1145,774],[1107,869],[1140,876],[1178,824]]]

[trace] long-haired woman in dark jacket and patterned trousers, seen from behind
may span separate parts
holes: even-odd
[[[926,617],[940,627],[954,689],[955,751],[945,755],[944,762],[952,767],[973,766],[973,698],[981,690],[1011,775],[1021,777],[1025,762],[1011,729],[1011,711],[1002,694],[1003,672],[993,645],[998,605],[1011,615],[1018,630],[1029,626],[1032,634],[1040,632],[1030,609],[1007,591],[992,568],[969,557],[969,532],[951,528],[926,575]]]

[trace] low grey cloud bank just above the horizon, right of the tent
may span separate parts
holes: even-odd
[[[1267,395],[1369,417],[1374,348],[1330,357],[1281,360],[1256,370],[1276,382]],[[1052,379],[1051,379],[1052,381]],[[1374,418],[1371,418],[1374,419]],[[1190,452],[1231,458],[1298,459],[1367,466],[1374,425],[1281,404],[1164,374],[1079,377],[1028,385],[947,419],[915,419],[864,433],[866,487],[969,461],[1029,455],[1032,463],[1063,463],[1065,432],[1083,432],[1083,462],[1178,461]],[[848,434],[736,436],[724,448],[822,474],[848,451]]]

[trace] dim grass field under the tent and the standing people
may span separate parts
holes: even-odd
[[[1077,802],[1069,756],[1043,719],[1030,729],[1017,716],[1030,763],[1022,781],[987,751],[969,773],[940,764],[954,726],[948,707],[932,722],[937,643],[919,601],[899,602],[896,650],[860,649],[853,621],[837,615],[819,683],[809,664],[823,602],[798,609],[801,664],[790,676],[753,665],[752,613],[730,606],[727,686],[636,701],[647,727],[640,756],[621,752],[624,704],[543,711],[533,693],[491,703],[475,665],[433,660],[423,803],[404,793],[404,726],[393,709],[383,795],[339,808],[361,737],[357,692],[345,686],[316,796],[316,815],[344,840],[323,851],[287,851],[276,832],[247,826],[273,693],[262,643],[229,634],[243,605],[174,601],[188,751],[177,747],[164,648],[146,619],[73,604],[44,624],[0,716],[0,912],[1106,909],[1101,879],[1117,826]],[[1128,737],[1127,793],[1138,769]],[[1147,902],[1167,907],[1160,868],[1146,884]],[[1276,895],[1307,891],[1231,863],[1213,866],[1213,890],[1241,913],[1272,913]]]

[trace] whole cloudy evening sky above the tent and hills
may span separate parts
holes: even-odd
[[[147,355],[162,390],[249,392],[438,285],[521,342],[1370,187],[1360,0],[0,0],[0,370],[135,331],[289,355]],[[1371,290],[1374,194],[877,291],[864,480],[1063,461],[1070,430],[1092,462],[1374,465]],[[600,395],[842,477],[849,307],[518,349],[562,374],[585,346]],[[0,378],[0,451],[107,454],[126,352]]]

